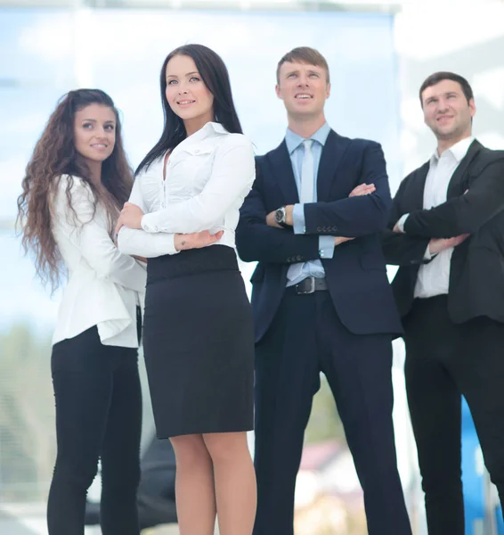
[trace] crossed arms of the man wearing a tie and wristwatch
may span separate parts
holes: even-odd
[[[272,212],[266,210],[261,166],[257,165],[256,170],[256,182],[240,210],[236,234],[237,248],[245,261],[293,263],[321,259],[320,236],[333,236],[334,245],[339,246],[356,237],[377,233],[386,226],[391,199],[379,144],[370,143],[364,149],[359,184],[348,197],[303,205],[305,232],[302,234],[296,234],[291,227],[280,228],[274,224]],[[288,212],[292,210],[289,207]]]

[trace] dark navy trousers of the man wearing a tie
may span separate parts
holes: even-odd
[[[391,337],[350,333],[329,292],[286,291],[256,346],[255,535],[293,534],[297,471],[321,372],[345,426],[370,535],[411,535],[395,457],[391,366]]]

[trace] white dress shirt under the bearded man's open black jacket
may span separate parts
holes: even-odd
[[[474,140],[475,138],[472,136],[466,137],[444,151],[441,156],[438,155],[437,151],[432,155],[424,189],[424,210],[430,210],[446,202],[451,177]],[[401,230],[406,218],[407,216],[401,219]],[[424,299],[448,293],[452,254],[453,247],[450,247],[432,258],[427,246],[425,259],[432,259],[428,264],[422,264],[419,268],[419,276],[417,284],[415,284],[415,297]]]

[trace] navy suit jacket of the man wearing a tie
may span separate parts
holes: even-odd
[[[376,185],[376,192],[348,198],[363,183]],[[332,259],[321,260],[343,324],[359,334],[401,333],[380,245],[391,203],[380,145],[331,131],[321,153],[317,195],[318,202],[305,204],[305,235],[267,226],[268,213],[299,198],[285,141],[256,159],[256,182],[236,233],[240,258],[259,262],[251,278],[256,342],[279,308],[289,265],[320,259],[319,235],[356,238],[337,246]]]

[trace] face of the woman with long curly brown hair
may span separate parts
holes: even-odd
[[[116,114],[102,104],[89,104],[77,111],[74,142],[77,152],[92,162],[109,158],[116,144]]]

